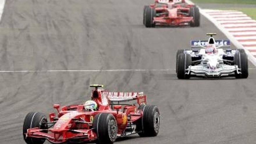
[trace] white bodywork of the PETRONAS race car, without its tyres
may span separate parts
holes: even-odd
[[[227,63],[231,63],[233,61],[223,60],[223,55],[234,57],[234,54],[236,52],[236,50],[224,52],[225,50],[223,50],[222,47],[229,47],[227,45],[224,45],[224,41],[218,42],[217,44],[214,38],[212,38],[214,44],[216,45],[216,52],[213,54],[207,54],[205,52],[205,48],[207,47],[211,38],[209,38],[208,42],[205,42],[205,45],[201,45],[200,42],[200,44],[196,46],[191,46],[192,48],[201,48],[199,53],[196,54],[192,50],[185,51],[185,53],[190,54],[191,57],[197,57],[199,55],[201,56],[201,60],[196,61],[196,65],[189,66],[189,68],[186,70],[186,74],[194,74],[196,76],[207,77],[221,77],[229,76],[230,74],[235,74],[235,72],[240,73],[240,69],[238,68],[237,65],[228,65],[224,63],[224,61],[226,61]]]

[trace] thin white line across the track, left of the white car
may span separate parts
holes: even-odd
[[[0,72],[136,72],[136,71],[174,71],[175,69],[153,70],[1,70]]]

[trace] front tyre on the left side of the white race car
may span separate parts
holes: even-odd
[[[186,74],[186,69],[191,65],[191,56],[181,53],[177,58],[177,77],[178,79],[189,79],[190,74]]]

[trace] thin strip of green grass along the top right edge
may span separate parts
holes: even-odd
[[[194,3],[256,4],[256,0],[192,0]]]

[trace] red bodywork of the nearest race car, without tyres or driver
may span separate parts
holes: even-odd
[[[143,111],[138,110],[135,104],[114,105],[113,108],[116,110],[113,110],[110,103],[136,100],[138,105],[146,104],[146,96],[143,93],[107,92],[97,88],[92,92],[92,100],[98,105],[97,111],[86,111],[84,105],[63,106],[59,111],[59,105],[54,104],[58,115],[50,113],[50,122],[48,122],[53,126],[48,129],[38,127],[28,129],[26,137],[45,138],[51,143],[63,143],[68,140],[92,141],[97,139],[97,134],[92,130],[93,118],[97,113],[102,112],[113,114],[118,126],[118,137],[125,136],[127,124],[136,123],[142,117]],[[118,111],[121,107],[122,111]]]

